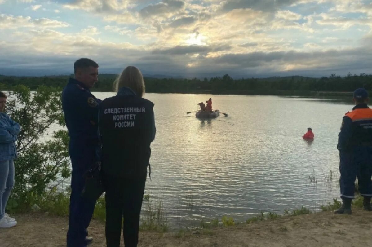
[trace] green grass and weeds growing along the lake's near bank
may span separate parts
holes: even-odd
[[[330,172],[331,173],[331,172]],[[331,175],[330,175],[331,177]],[[13,212],[29,212],[31,211],[31,206],[36,204],[40,207],[41,212],[48,212],[51,215],[55,216],[68,216],[68,208],[70,203],[70,192],[67,190],[65,193],[57,192],[56,190],[52,190],[48,194],[44,195],[28,195],[26,200],[27,205],[17,205],[17,203],[13,203],[9,201],[8,203],[9,208],[8,211],[12,214]],[[188,206],[193,206],[193,196],[190,193],[189,196],[189,203]],[[106,209],[105,209],[105,199],[101,197],[96,202],[96,207],[94,209],[93,218],[98,219],[102,222],[105,221],[106,218]],[[341,202],[337,199],[333,199],[333,202],[328,202],[326,205],[321,205],[322,211],[334,211],[341,206]],[[353,207],[362,208],[363,206],[363,197],[359,196],[355,200],[353,200]],[[14,208],[12,208],[14,207]],[[311,214],[311,210],[305,207],[301,207],[299,209],[294,209],[293,211],[289,211],[288,209],[284,210],[283,215],[279,215],[277,213],[268,212],[264,213],[261,211],[260,215],[256,215],[250,219],[245,221],[246,224],[252,224],[255,222],[260,221],[273,221],[276,219],[280,219],[284,216],[298,216],[298,215],[305,215]],[[217,227],[231,227],[234,225],[238,225],[240,222],[235,222],[233,217],[228,215],[223,215],[221,219],[218,218],[212,219],[210,222],[206,222],[205,218],[202,218],[200,221],[200,228],[203,229],[204,234],[213,234],[213,228]],[[144,195],[144,202],[142,203],[142,214],[141,214],[141,222],[140,222],[140,230],[141,231],[158,231],[158,232],[166,232],[169,231],[169,224],[166,217],[166,211],[163,205],[163,199],[152,200],[150,195]],[[281,231],[286,231],[286,229],[280,229]],[[186,230],[180,229],[178,232],[175,233],[175,237],[180,238],[185,236]]]

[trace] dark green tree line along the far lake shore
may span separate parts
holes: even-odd
[[[0,76],[5,90],[16,85],[26,85],[31,90],[39,86],[63,88],[69,76],[15,77]],[[110,92],[117,75],[100,74],[93,91]],[[360,74],[312,78],[303,76],[269,78],[235,78],[228,74],[212,78],[150,78],[145,77],[148,93],[215,93],[215,94],[307,94],[310,92],[352,92],[358,87],[372,90],[372,75]]]

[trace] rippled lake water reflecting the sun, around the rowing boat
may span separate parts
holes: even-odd
[[[93,92],[99,99],[113,93]],[[277,96],[156,94],[157,133],[145,194],[164,200],[171,225],[223,215],[235,221],[263,212],[319,210],[339,198],[341,120],[350,104]],[[195,118],[212,98],[217,119]],[[351,96],[350,96],[351,98]],[[302,139],[311,127],[313,142]],[[315,181],[314,181],[315,180]]]

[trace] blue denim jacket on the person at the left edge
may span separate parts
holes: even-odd
[[[13,160],[17,157],[15,141],[19,131],[19,124],[0,112],[0,161]]]

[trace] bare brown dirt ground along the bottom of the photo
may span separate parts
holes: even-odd
[[[67,218],[47,214],[13,216],[17,219],[18,225],[10,229],[0,229],[1,247],[65,246]],[[106,246],[105,226],[102,222],[93,220],[89,232],[94,238],[90,247]],[[185,234],[140,232],[138,246],[366,247],[372,246],[372,212],[357,209],[354,209],[353,215],[320,212],[199,232],[199,234],[191,234],[188,231]]]

